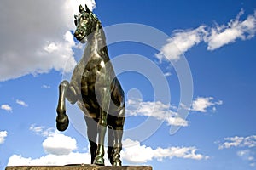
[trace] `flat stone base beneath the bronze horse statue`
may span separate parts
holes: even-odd
[[[96,166],[96,165],[67,165],[67,166],[9,166],[5,170],[152,170],[150,166]]]

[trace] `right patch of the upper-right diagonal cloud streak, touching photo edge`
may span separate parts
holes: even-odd
[[[243,11],[237,15],[235,20],[230,20],[226,26],[216,26],[211,29],[210,35],[205,38],[208,50],[220,48],[230,42],[235,42],[238,38],[246,40],[255,36],[256,12],[248,15],[246,20],[240,20],[241,14]]]

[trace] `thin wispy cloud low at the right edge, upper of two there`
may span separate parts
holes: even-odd
[[[227,149],[230,147],[248,147],[253,148],[256,146],[256,135],[247,137],[228,137],[224,138],[224,143],[218,145],[218,149]]]

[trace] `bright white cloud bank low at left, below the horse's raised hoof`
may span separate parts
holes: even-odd
[[[9,157],[8,166],[61,166],[67,164],[90,164],[90,144],[84,153],[76,152],[77,141],[69,136],[61,134],[54,130],[53,127],[36,126],[32,124],[29,128],[32,132],[45,137],[42,146],[46,153],[39,158],[24,157],[13,155]],[[105,148],[107,150],[107,148]],[[104,157],[107,160],[107,154]],[[106,161],[105,165],[111,165]]]

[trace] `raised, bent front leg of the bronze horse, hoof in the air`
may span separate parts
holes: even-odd
[[[69,82],[64,80],[59,86],[59,102],[57,106],[56,127],[59,131],[65,131],[68,127],[68,116],[66,115],[66,102],[68,99],[70,103],[74,104],[77,101],[76,92]]]

